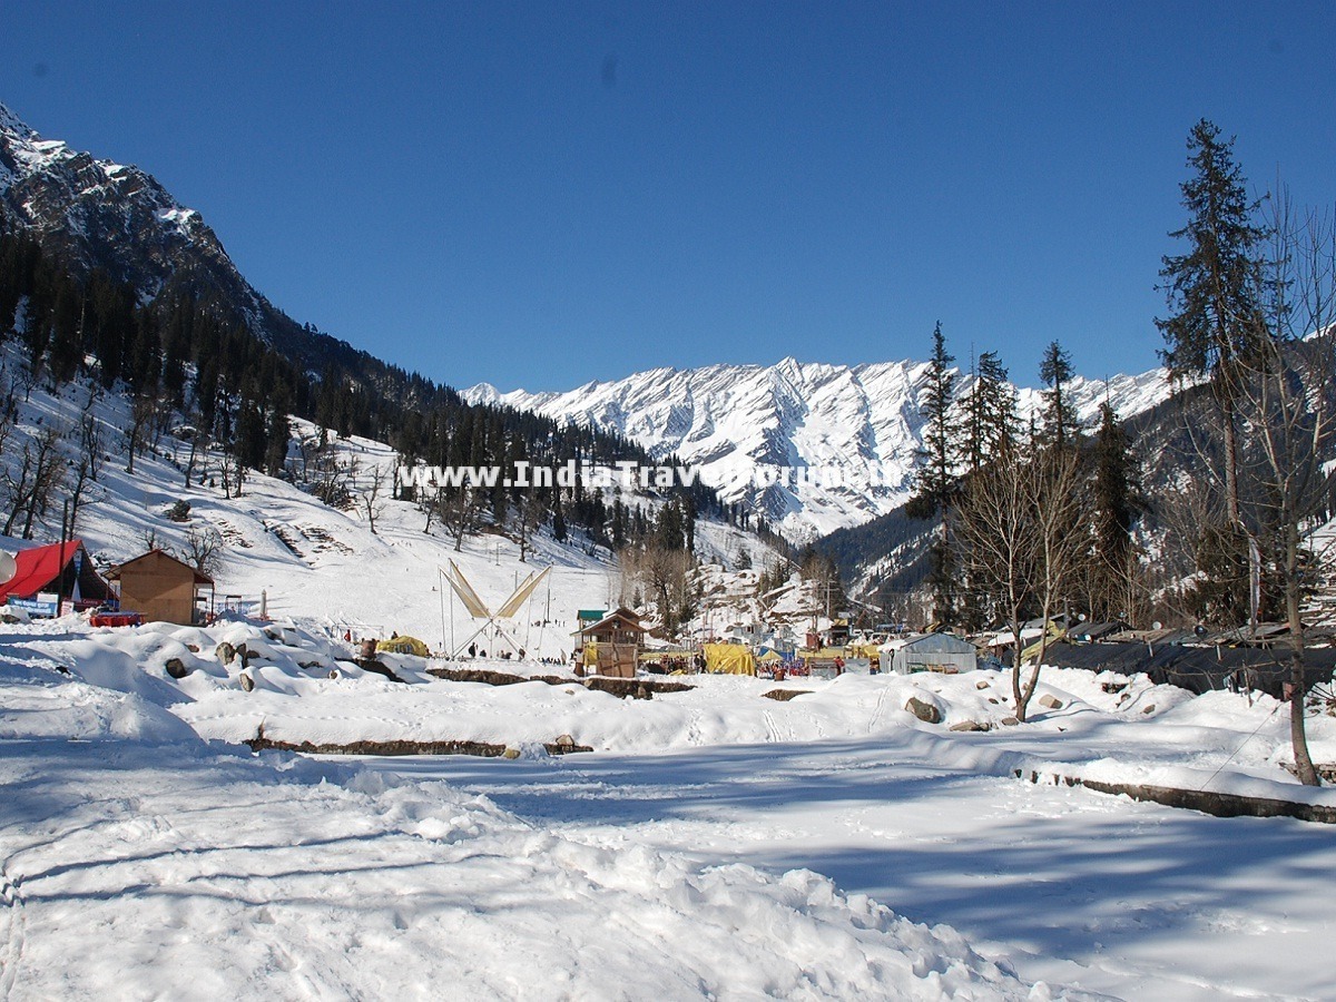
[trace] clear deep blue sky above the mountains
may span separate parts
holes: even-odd
[[[1168,9],[1165,9],[1168,8]],[[1198,118],[1336,199],[1336,4],[0,0],[0,102],[457,386],[1156,363]]]

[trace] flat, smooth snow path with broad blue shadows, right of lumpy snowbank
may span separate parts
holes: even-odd
[[[962,776],[923,747],[880,736],[377,767],[612,847],[810,867],[954,926],[1026,979],[1124,998],[1331,997],[1331,827]]]

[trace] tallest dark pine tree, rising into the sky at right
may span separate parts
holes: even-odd
[[[1188,224],[1169,235],[1186,240],[1185,254],[1165,255],[1160,277],[1170,315],[1156,319],[1164,334],[1165,366],[1176,379],[1209,375],[1224,429],[1225,493],[1229,517],[1240,521],[1234,363],[1256,351],[1264,337],[1257,302],[1265,231],[1253,222],[1234,140],[1201,119],[1188,134],[1188,167],[1181,184]]]

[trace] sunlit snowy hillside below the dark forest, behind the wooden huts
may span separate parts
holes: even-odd
[[[17,365],[16,349],[3,350],[9,365]],[[454,540],[440,525],[424,532],[425,520],[410,502],[383,501],[371,532],[365,509],[329,508],[294,484],[258,473],[248,474],[240,497],[228,498],[219,486],[218,456],[206,457],[203,466],[212,486],[200,485],[198,476],[186,484],[190,445],[170,434],[150,454],[136,457],[130,474],[119,432],[128,426],[127,409],[124,398],[91,394],[76,383],[56,393],[37,387],[28,402],[20,399],[20,426],[0,457],[0,465],[17,462],[25,437],[48,428],[72,429],[84,411],[102,422],[108,458],[90,488],[77,534],[103,568],[139,556],[148,538],[180,550],[191,530],[214,529],[226,544],[215,574],[219,608],[231,604],[258,612],[263,600],[270,616],[329,636],[398,632],[418,636],[433,649],[453,649],[477,624],[448,587],[441,591],[438,568],[456,561],[496,609],[532,570],[550,566],[550,584],[533,595],[514,623],[520,644],[534,657],[569,657],[576,612],[612,608],[620,597],[621,576],[607,550],[593,553],[578,537],[558,544],[544,532],[521,561],[518,544],[501,534],[469,537],[456,552]],[[295,420],[294,432],[317,434],[309,422]],[[72,454],[73,442],[68,448]],[[369,489],[375,469],[393,478],[397,457],[389,446],[354,437],[339,441],[338,450],[343,461],[358,465],[357,493]],[[166,514],[180,500],[191,506],[187,522]],[[651,510],[656,504],[640,502]],[[59,532],[55,508],[35,541],[55,540]],[[696,540],[704,560],[724,558],[740,548],[758,562],[770,556],[755,536],[719,522],[700,521]],[[35,541],[0,537],[0,545],[11,550]],[[497,639],[484,636],[480,644],[492,649]]]

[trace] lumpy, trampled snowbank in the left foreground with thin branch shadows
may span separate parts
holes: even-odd
[[[440,782],[111,735],[0,752],[16,999],[1030,997],[818,874],[588,844]]]

